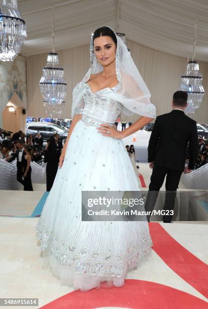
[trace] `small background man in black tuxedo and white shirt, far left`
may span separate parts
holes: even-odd
[[[17,150],[15,154],[12,156],[10,160],[8,160],[9,163],[15,160],[17,158],[17,181],[19,181],[22,185],[24,185],[24,180],[22,179],[23,177],[23,167],[24,167],[24,160],[26,152],[24,151],[24,144],[25,142],[23,140],[18,140],[16,142]]]

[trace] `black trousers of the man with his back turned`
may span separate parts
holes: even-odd
[[[152,212],[155,208],[155,203],[158,197],[158,193],[160,191],[160,188],[163,185],[165,176],[166,176],[166,183],[165,183],[165,203],[163,210],[164,211],[173,211],[174,205],[175,205],[175,197],[176,197],[176,191],[178,188],[178,184],[180,181],[180,177],[183,171],[181,170],[174,170],[166,167],[159,167],[154,166],[153,167],[153,173],[151,176],[151,182],[149,185],[149,191],[145,203],[145,211],[146,212]],[[167,212],[169,213],[169,212]],[[151,215],[147,216],[147,220],[150,221]],[[173,215],[164,215],[163,221],[171,221],[173,218]]]

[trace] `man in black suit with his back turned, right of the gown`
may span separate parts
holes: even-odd
[[[196,121],[184,114],[187,97],[187,92],[176,91],[173,95],[172,112],[158,116],[155,120],[148,146],[148,162],[153,172],[145,204],[146,211],[153,211],[166,175],[164,210],[173,211],[181,174],[190,173],[194,169],[198,156],[198,134]],[[188,142],[190,158],[185,167]],[[164,215],[163,222],[172,222],[172,213]],[[150,217],[147,216],[148,221]]]

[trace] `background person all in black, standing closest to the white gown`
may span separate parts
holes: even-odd
[[[55,179],[58,162],[60,157],[60,149],[57,149],[57,145],[54,137],[51,137],[46,150],[44,150],[44,163],[46,165],[46,190],[50,191]]]

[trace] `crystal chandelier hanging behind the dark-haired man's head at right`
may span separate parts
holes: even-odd
[[[196,29],[197,22],[195,24],[195,40],[193,44],[192,61],[188,62],[186,71],[181,76],[180,85],[178,87],[178,90],[186,91],[188,94],[188,106],[185,109],[185,113],[188,114],[190,117],[193,116],[195,111],[200,107],[202,98],[204,96],[202,75],[199,72],[199,65],[196,61],[193,61],[196,46]]]

